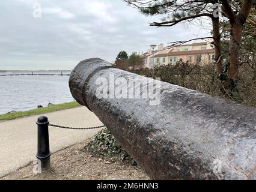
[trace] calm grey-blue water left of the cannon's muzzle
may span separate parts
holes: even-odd
[[[73,100],[69,76],[0,76],[0,114]]]

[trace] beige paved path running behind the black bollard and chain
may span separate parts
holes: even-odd
[[[97,116],[86,107],[76,107],[44,115],[52,124],[73,127],[102,125]],[[37,125],[35,122],[37,118],[38,115],[0,122],[0,177],[35,160],[37,152]],[[64,130],[49,127],[50,151],[56,152],[82,142],[99,130]]]

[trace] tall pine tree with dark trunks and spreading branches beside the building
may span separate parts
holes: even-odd
[[[240,65],[239,53],[242,39],[243,26],[252,8],[253,0],[123,0],[130,6],[138,8],[146,15],[163,15],[161,22],[151,22],[150,26],[174,26],[181,22],[192,22],[196,18],[210,18],[212,20],[213,44],[215,45],[215,58],[217,71],[222,71],[221,62],[221,32],[220,14],[227,17],[230,23],[230,38],[228,50],[228,77],[230,82],[236,79]],[[218,8],[221,7],[221,10]],[[209,37],[207,37],[209,38]],[[203,38],[202,38],[203,39]],[[230,84],[230,82],[228,84]]]

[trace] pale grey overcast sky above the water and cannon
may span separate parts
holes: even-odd
[[[207,34],[194,25],[149,26],[162,16],[121,0],[11,0],[0,8],[0,70],[71,70],[84,59],[112,62],[120,50],[130,55]]]

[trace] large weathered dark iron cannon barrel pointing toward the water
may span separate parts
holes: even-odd
[[[254,107],[129,73],[99,58],[79,62],[69,86],[151,179],[256,179]],[[153,94],[138,97],[152,87]],[[123,97],[113,97],[114,89]],[[102,96],[106,90],[108,98]],[[137,96],[125,97],[130,93]]]

